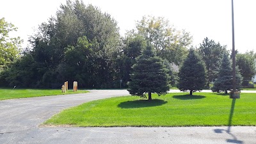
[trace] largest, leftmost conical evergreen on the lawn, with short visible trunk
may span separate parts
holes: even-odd
[[[151,100],[151,93],[161,95],[169,90],[168,74],[164,68],[163,60],[155,56],[152,45],[143,49],[141,56],[136,58],[132,66],[131,81],[129,82],[129,93],[145,97],[148,93],[148,100]]]

